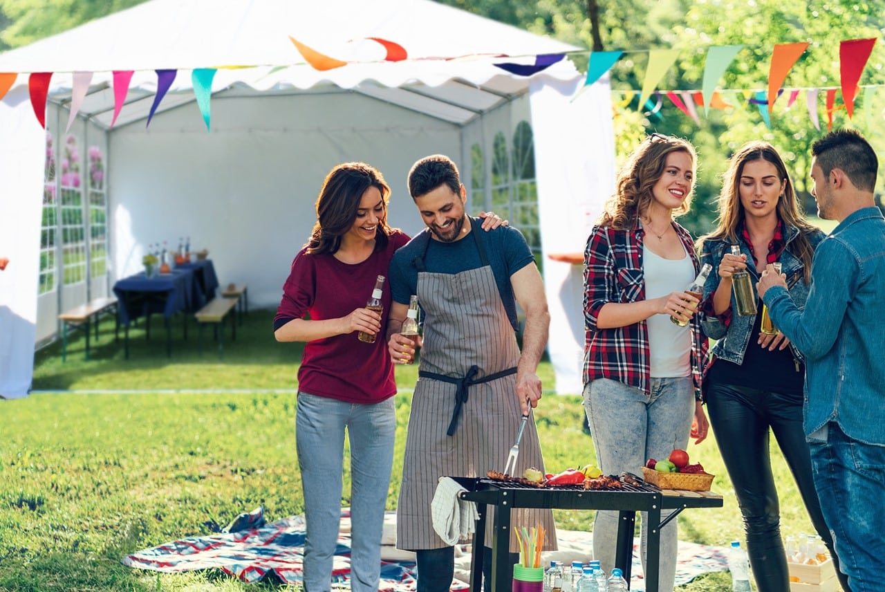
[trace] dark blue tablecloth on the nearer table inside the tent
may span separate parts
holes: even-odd
[[[119,301],[119,322],[128,325],[133,319],[162,312],[168,319],[178,311],[195,311],[194,272],[176,269],[147,277],[143,272],[130,275],[113,285]]]

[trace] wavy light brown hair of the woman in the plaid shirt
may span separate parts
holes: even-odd
[[[673,152],[686,152],[694,169],[697,162],[695,147],[687,140],[672,135],[652,134],[627,157],[627,162],[618,173],[615,193],[604,205],[603,213],[596,222],[599,226],[616,230],[629,230],[636,226],[640,214],[646,211],[653,196],[651,189],[664,174],[666,158]],[[692,173],[695,173],[693,170]],[[694,183],[692,183],[694,188]],[[673,210],[673,215],[681,216],[691,207],[691,191],[682,204]]]

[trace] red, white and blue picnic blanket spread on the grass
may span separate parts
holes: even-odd
[[[282,583],[302,582],[304,556],[304,516],[294,516],[265,523],[264,511],[243,513],[224,529],[226,532],[166,542],[151,549],[123,557],[123,565],[164,573],[182,573],[203,569],[219,569],[245,582],[276,578]],[[381,582],[385,592],[413,592],[416,588],[413,555],[396,550],[391,537],[396,534],[396,512],[385,517],[384,539],[381,551]],[[643,569],[635,540],[633,578],[634,592],[645,589]],[[589,560],[592,534],[558,530],[559,550],[542,556],[546,565],[550,558]],[[456,546],[456,579],[451,590],[466,590],[470,573],[469,545]],[[566,557],[567,556],[567,557]],[[727,570],[724,547],[711,547],[691,542],[679,542],[679,560],[676,566],[676,585],[681,586],[707,572]],[[341,531],[335,549],[332,578],[335,589],[350,589],[350,508],[342,508]]]

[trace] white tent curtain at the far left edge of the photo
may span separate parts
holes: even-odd
[[[0,396],[26,396],[34,371],[37,282],[40,273],[43,154],[40,127],[27,87],[0,101]]]

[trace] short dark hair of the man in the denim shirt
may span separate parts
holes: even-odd
[[[837,168],[862,191],[873,191],[879,158],[870,142],[854,129],[837,129],[812,144],[812,157],[817,159],[824,175]]]

